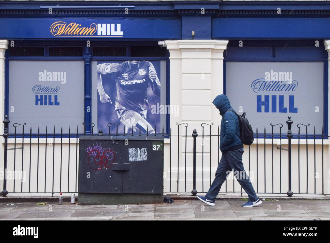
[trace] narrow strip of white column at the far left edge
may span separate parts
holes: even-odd
[[[0,118],[0,134],[3,134],[3,120],[5,114],[5,51],[8,49],[8,40],[0,40],[0,106],[1,106],[1,118]],[[3,137],[0,136],[0,171],[3,171]],[[3,180],[0,179],[0,192],[3,189]]]

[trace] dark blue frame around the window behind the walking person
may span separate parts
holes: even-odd
[[[239,46],[239,41],[243,40],[243,46],[239,48],[244,47],[255,47],[255,48],[260,48],[260,47],[270,47],[272,48],[272,53],[270,57],[265,57],[263,53],[258,53],[258,52],[253,52],[251,50],[246,50],[245,57],[240,57],[240,56],[233,56],[233,57],[228,57],[228,52],[230,51],[231,47],[237,47]],[[323,40],[229,40],[227,49],[224,51],[223,56],[223,94],[226,94],[226,62],[230,61],[240,61],[240,62],[260,62],[260,61],[267,61],[267,62],[323,62],[323,138],[328,139],[328,52],[325,50],[323,46]],[[315,47],[315,41],[319,41],[319,46]],[[278,58],[277,57],[277,50],[279,48],[285,48],[285,47],[301,47],[301,48],[306,48],[306,47],[314,47],[320,49],[319,53],[322,53],[321,56],[315,56],[315,53],[310,53],[309,56],[304,54],[305,52],[299,53],[299,56],[292,57],[292,58]],[[314,55],[314,57],[313,57]],[[310,129],[311,131],[312,129]],[[286,124],[283,124],[281,133],[281,138],[286,138]],[[300,136],[302,137],[304,131],[301,131]],[[260,136],[261,135],[261,136]],[[293,139],[298,138],[298,134],[293,134]],[[315,134],[316,139],[322,139],[322,134]],[[308,139],[314,139],[314,133],[308,133]],[[256,137],[256,134],[254,135]],[[258,132],[258,137],[263,138],[263,133]],[[266,138],[272,138],[272,134],[266,133]],[[280,138],[279,133],[274,133],[273,138]],[[304,137],[302,137],[303,139]]]

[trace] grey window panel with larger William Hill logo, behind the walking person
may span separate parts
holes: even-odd
[[[270,123],[282,123],[287,131],[288,116],[297,124],[308,124],[308,133],[322,132],[323,62],[226,62],[226,95],[238,114],[246,112],[254,133],[271,133]],[[274,132],[279,133],[279,128]],[[301,128],[305,133],[305,127]]]

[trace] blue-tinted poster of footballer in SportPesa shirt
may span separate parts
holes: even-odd
[[[159,133],[160,61],[97,62],[97,127],[105,133]],[[109,124],[110,123],[110,124]],[[112,124],[111,124],[112,123]]]

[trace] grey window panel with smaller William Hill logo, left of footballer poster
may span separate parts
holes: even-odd
[[[84,61],[10,60],[8,108],[11,133],[83,132]]]

